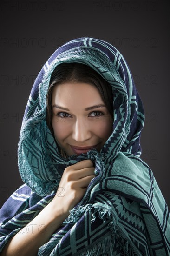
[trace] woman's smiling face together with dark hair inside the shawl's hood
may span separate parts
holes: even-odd
[[[87,153],[92,148],[99,152],[113,129],[111,86],[81,63],[60,64],[53,74],[47,96],[47,121],[61,151],[68,156]],[[106,88],[110,97],[105,99]]]

